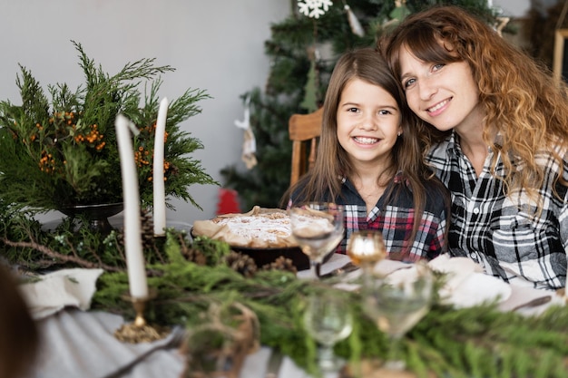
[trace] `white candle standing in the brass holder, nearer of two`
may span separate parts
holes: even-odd
[[[130,132],[132,131],[136,135],[139,131],[132,121],[122,114],[116,117],[114,127],[116,128],[116,140],[121,158],[124,249],[126,251],[130,295],[132,298],[146,298],[148,297],[148,283],[146,282],[146,267],[142,254],[140,193],[138,192],[138,175],[136,174]]]

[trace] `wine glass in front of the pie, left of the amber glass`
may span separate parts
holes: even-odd
[[[343,206],[310,202],[302,207],[290,208],[290,225],[292,236],[309,257],[313,276],[318,279],[324,257],[343,238]]]

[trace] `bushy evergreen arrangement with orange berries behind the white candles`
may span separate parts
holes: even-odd
[[[118,113],[139,128],[134,140],[142,207],[152,206],[152,154],[159,108],[161,73],[154,59],[124,65],[109,75],[73,42],[85,82],[48,86],[49,97],[21,66],[16,79],[22,104],[0,102],[0,199],[34,212],[76,205],[122,202],[122,180],[114,120]],[[142,82],[144,91],[142,93]],[[170,103],[166,121],[164,179],[166,196],[189,200],[192,184],[217,184],[191,152],[201,142],[180,123],[201,112],[197,102],[210,96],[188,89]]]

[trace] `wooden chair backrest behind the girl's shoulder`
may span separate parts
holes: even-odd
[[[292,114],[289,118],[288,131],[292,141],[290,186],[311,169],[316,161],[322,118],[323,108],[309,114]]]

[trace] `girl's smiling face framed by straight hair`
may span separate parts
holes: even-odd
[[[400,110],[395,98],[382,87],[354,78],[338,104],[338,141],[356,166],[387,167],[397,142]]]

